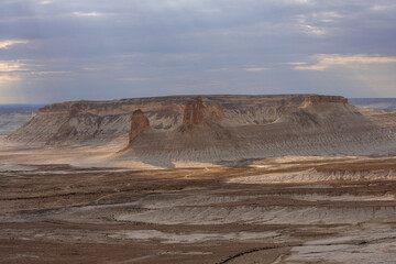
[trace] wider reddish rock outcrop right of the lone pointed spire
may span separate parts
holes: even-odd
[[[206,105],[201,97],[197,97],[194,101],[187,102],[183,123],[185,124],[200,124],[207,119],[226,118],[224,110],[221,105]]]

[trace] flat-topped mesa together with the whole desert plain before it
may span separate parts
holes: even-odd
[[[2,136],[0,263],[395,263],[394,112],[170,99],[53,105]]]

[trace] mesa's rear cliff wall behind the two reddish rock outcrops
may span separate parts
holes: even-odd
[[[301,107],[306,98],[307,95],[201,96],[201,101],[205,116],[227,118],[234,124],[267,124]],[[9,140],[44,144],[106,144],[130,132],[131,113],[136,109],[145,113],[152,129],[172,131],[184,123],[186,105],[195,100],[196,96],[173,96],[53,103],[41,108]],[[199,114],[194,118],[195,122],[199,122]]]

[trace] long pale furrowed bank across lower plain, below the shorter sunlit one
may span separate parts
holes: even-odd
[[[393,206],[356,208],[283,207],[283,206],[201,206],[152,209],[114,216],[117,221],[153,224],[314,224],[356,223],[395,217]]]

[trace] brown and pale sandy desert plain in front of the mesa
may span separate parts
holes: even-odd
[[[2,146],[0,263],[396,260],[395,157],[157,169],[106,162],[117,142]]]

